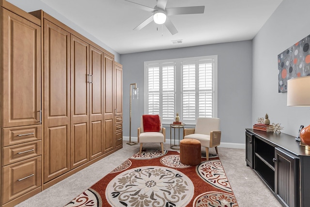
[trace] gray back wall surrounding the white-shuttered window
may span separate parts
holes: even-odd
[[[123,64],[123,136],[129,136],[130,83],[137,83],[139,99],[132,100],[131,136],[144,112],[144,61],[218,55],[218,117],[223,143],[245,143],[245,128],[251,127],[252,41],[240,41],[189,48],[155,50],[121,55]],[[167,127],[167,139],[170,130]]]

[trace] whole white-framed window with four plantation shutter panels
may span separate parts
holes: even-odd
[[[217,117],[217,56],[144,62],[144,113],[163,123]]]

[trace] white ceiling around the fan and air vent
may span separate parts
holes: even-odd
[[[8,0],[14,2],[24,0]],[[123,0],[40,0],[119,54],[251,40],[282,0],[168,0],[167,8],[205,6],[204,14],[170,16],[178,33],[150,23],[152,13]],[[154,8],[156,0],[131,0]],[[27,4],[27,1],[24,1]],[[17,4],[16,4],[17,5]],[[23,8],[22,8],[23,9]],[[29,1],[24,8],[31,11]],[[34,8],[33,10],[37,10]],[[172,40],[183,40],[172,44]]]

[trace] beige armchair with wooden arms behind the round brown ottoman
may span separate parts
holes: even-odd
[[[209,160],[209,148],[217,146],[221,142],[221,131],[219,129],[219,118],[203,118],[199,117],[195,128],[184,128],[183,139],[199,140],[205,147],[206,159]]]

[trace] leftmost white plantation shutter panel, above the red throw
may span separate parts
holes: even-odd
[[[159,114],[159,64],[148,65],[149,114]]]

